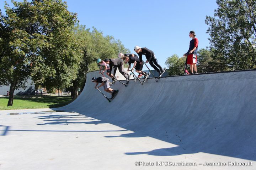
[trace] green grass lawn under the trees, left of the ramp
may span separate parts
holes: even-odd
[[[70,96],[15,96],[13,105],[7,107],[8,100],[9,97],[0,97],[0,110],[54,108],[73,101]]]

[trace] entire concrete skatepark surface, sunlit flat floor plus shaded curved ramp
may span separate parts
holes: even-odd
[[[256,70],[116,82],[110,103],[95,76],[65,107],[0,111],[0,169],[256,169]]]

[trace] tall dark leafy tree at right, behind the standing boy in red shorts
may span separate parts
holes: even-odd
[[[224,70],[256,68],[256,1],[216,2],[214,17],[206,16],[211,51]]]

